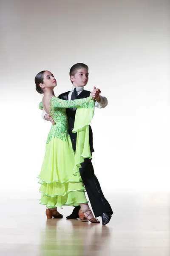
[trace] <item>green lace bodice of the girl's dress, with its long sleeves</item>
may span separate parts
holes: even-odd
[[[46,141],[47,144],[51,141],[52,138],[57,137],[61,140],[67,140],[67,137],[70,136],[68,133],[66,108],[94,108],[94,100],[91,96],[88,98],[71,101],[52,97],[50,101],[50,115],[53,118],[55,124],[51,126],[51,130]],[[40,102],[39,108],[43,108],[42,102]]]

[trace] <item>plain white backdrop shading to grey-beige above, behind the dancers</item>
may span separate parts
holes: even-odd
[[[50,123],[34,77],[50,70],[56,96],[70,67],[89,66],[96,109],[93,164],[107,192],[170,191],[170,28],[167,0],[0,0],[1,186],[39,198]],[[1,194],[2,195],[2,194]]]

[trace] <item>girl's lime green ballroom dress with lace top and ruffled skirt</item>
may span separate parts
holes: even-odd
[[[38,176],[42,193],[40,204],[48,208],[78,206],[88,202],[79,168],[84,158],[91,158],[88,126],[94,115],[94,100],[90,96],[71,101],[52,97],[50,101],[50,115],[55,125],[51,126],[48,134],[45,157]],[[43,108],[42,102],[39,108]],[[66,108],[77,108],[72,131],[77,132],[76,152],[72,149],[68,133]]]

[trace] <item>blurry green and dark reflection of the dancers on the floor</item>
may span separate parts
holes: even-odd
[[[110,242],[109,227],[80,220],[47,219],[40,233],[40,256],[99,256]]]

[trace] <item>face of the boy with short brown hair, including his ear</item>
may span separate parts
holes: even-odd
[[[83,87],[88,83],[88,70],[81,68],[74,76],[71,76],[74,87]]]

